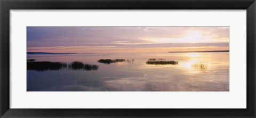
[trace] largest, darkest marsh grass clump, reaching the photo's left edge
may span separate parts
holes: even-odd
[[[47,71],[67,68],[67,63],[62,62],[27,62],[27,70]]]

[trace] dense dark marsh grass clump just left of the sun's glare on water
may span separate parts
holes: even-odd
[[[159,58],[156,60],[155,58],[149,58],[149,60],[146,62],[146,64],[154,64],[154,65],[167,65],[167,64],[172,64],[176,65],[179,62],[177,61],[165,61],[163,58]]]

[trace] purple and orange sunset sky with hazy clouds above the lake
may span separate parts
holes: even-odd
[[[27,52],[229,50],[229,27],[27,27]]]

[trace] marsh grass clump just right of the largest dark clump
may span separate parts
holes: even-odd
[[[86,70],[86,71],[99,69],[98,65],[84,64],[83,62],[71,62],[68,65],[68,67],[71,70]]]

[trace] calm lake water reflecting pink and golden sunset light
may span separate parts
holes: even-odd
[[[81,61],[98,70],[27,70],[27,91],[229,91],[229,53],[41,54],[36,61]],[[104,64],[100,59],[125,59]],[[146,64],[149,58],[178,64]],[[129,61],[127,61],[129,60]],[[198,65],[202,65],[198,66]]]

